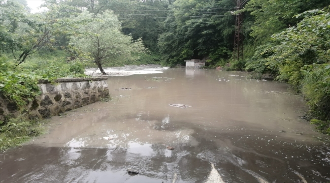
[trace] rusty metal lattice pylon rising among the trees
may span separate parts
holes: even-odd
[[[236,11],[242,9],[247,0],[233,0],[236,3]],[[243,54],[243,13],[236,14],[235,39],[233,57],[237,60],[244,60]]]

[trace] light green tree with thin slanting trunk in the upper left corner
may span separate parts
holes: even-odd
[[[56,49],[56,36],[69,33],[69,17],[76,8],[56,3],[45,6],[47,12],[32,15],[16,1],[0,2],[0,46],[4,52],[12,52],[16,67],[42,48]],[[67,15],[59,15],[63,10]]]

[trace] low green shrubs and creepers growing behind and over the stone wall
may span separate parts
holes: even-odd
[[[57,56],[58,52],[55,52]],[[49,57],[47,59],[45,57]],[[16,63],[5,56],[0,57],[0,94],[23,106],[40,95],[38,81],[53,81],[60,77],[86,77],[85,66],[80,60],[67,62],[65,57],[36,55],[16,69]]]

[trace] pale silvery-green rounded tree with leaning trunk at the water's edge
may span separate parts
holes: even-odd
[[[117,60],[135,60],[135,53],[142,53],[145,47],[138,39],[121,32],[121,24],[111,11],[92,14],[84,11],[75,21],[79,23],[77,34],[72,36],[71,44],[78,50],[88,52],[102,74],[102,65]]]

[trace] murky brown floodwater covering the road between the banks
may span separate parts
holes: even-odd
[[[111,101],[54,116],[49,133],[1,153],[0,182],[330,182],[328,136],[288,85],[162,72],[109,77]]]

